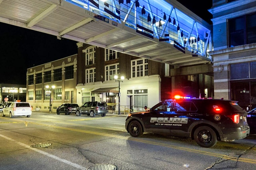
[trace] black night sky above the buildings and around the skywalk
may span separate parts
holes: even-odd
[[[212,24],[211,0],[177,1]],[[0,22],[0,83],[26,84],[28,68],[77,54],[76,43]]]

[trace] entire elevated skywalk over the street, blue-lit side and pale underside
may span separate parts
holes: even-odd
[[[177,1],[0,0],[0,22],[175,68],[210,63],[211,27]]]

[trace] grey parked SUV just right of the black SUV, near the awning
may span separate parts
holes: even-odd
[[[82,107],[76,109],[76,116],[90,115],[95,117],[95,115],[105,116],[108,112],[107,103],[105,101],[90,101],[82,105]]]

